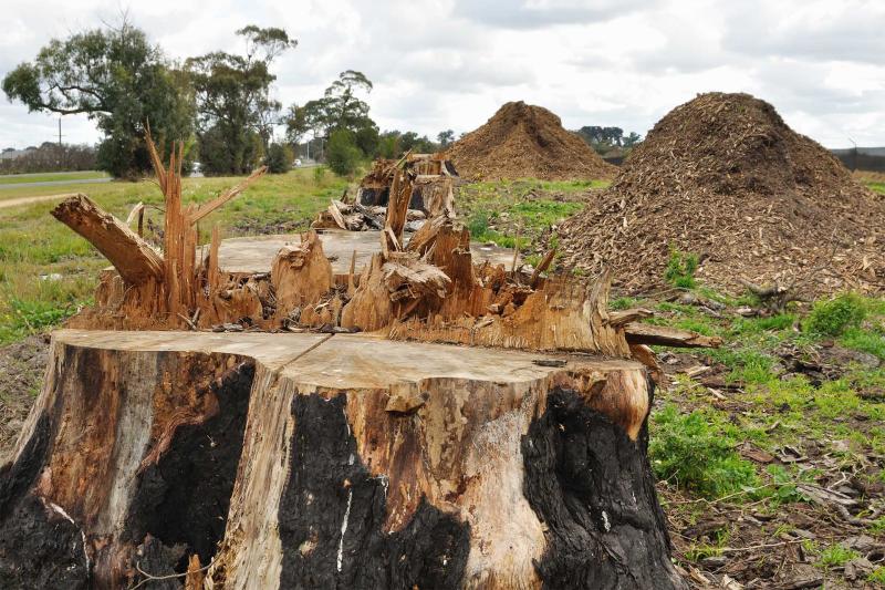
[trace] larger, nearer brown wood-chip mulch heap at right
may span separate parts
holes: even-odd
[[[697,277],[816,296],[885,288],[885,205],[835,156],[748,94],[709,93],[674,108],[612,186],[559,229],[564,263],[662,283],[670,246],[701,258]]]

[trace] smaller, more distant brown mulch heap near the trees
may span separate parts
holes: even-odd
[[[571,180],[612,178],[616,168],[560,117],[522,101],[504,104],[485,125],[448,149],[461,178]]]

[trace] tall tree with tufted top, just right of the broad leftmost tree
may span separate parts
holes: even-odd
[[[281,105],[270,65],[298,41],[283,29],[238,30],[244,55],[216,51],[187,61],[197,97],[200,159],[209,174],[244,174],[264,156]]]

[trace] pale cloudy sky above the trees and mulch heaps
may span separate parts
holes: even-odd
[[[523,100],[569,128],[644,135],[695,94],[726,91],[771,102],[829,147],[885,145],[882,0],[3,0],[0,75],[126,9],[174,59],[241,50],[247,23],[283,27],[299,40],[275,63],[283,104],[360,70],[382,130],[461,133]],[[63,132],[98,138],[85,117]],[[56,133],[58,116],[0,97],[0,147]]]

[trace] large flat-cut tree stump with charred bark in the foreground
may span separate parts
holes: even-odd
[[[0,587],[192,587],[198,556],[206,588],[683,588],[652,393],[627,360],[60,331],[0,467]]]

